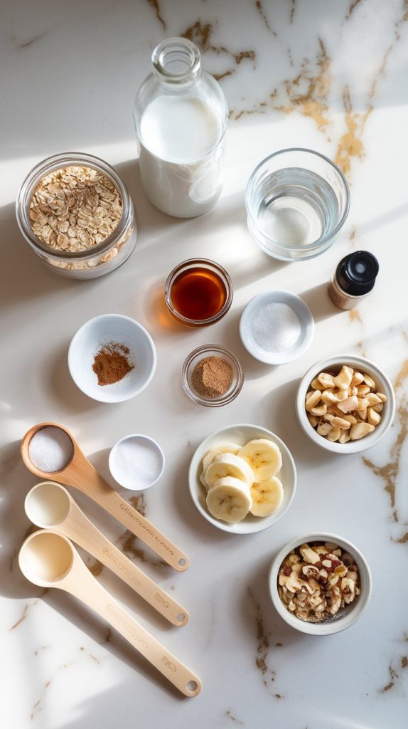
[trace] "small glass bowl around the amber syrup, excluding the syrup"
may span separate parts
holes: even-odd
[[[214,313],[212,316],[207,316],[203,319],[194,319],[184,316],[183,313],[177,311],[175,302],[172,300],[172,286],[180,274],[188,272],[194,268],[208,270],[209,274],[215,279],[221,281],[225,288],[225,303],[219,311]],[[223,319],[223,316],[229,311],[233,299],[233,284],[230,276],[226,272],[225,268],[215,261],[211,261],[208,258],[189,258],[182,263],[179,263],[172,272],[169,273],[166,281],[166,287],[164,290],[164,297],[166,299],[167,307],[172,316],[180,322],[185,324],[186,327],[209,327],[210,324],[215,324],[216,321]]]

